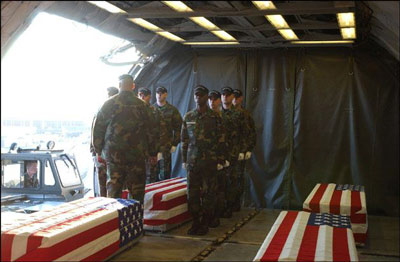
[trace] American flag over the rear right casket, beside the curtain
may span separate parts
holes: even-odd
[[[368,221],[364,187],[360,185],[317,184],[303,203],[303,210],[349,215],[358,245],[367,239]]]

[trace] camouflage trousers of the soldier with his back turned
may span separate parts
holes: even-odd
[[[130,197],[144,201],[146,167],[144,161],[130,165],[107,162],[107,197],[121,198],[122,190],[128,189]]]

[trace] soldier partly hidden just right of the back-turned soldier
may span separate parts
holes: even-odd
[[[157,152],[160,151],[159,146],[159,138],[160,138],[160,113],[154,107],[150,105],[151,99],[151,91],[146,87],[139,88],[138,97],[148,106],[149,110],[153,115],[153,121],[155,126],[155,135],[156,135],[156,148]],[[159,153],[161,154],[161,153]],[[159,156],[160,158],[160,156]],[[146,158],[146,184],[154,183],[158,181],[157,175],[157,157],[147,156]]]

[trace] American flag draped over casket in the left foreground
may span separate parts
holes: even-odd
[[[89,197],[1,221],[2,261],[101,261],[143,231],[136,200]]]

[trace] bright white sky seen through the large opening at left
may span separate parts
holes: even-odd
[[[118,76],[132,67],[109,66],[100,57],[126,43],[78,22],[40,13],[1,62],[2,118],[90,124],[107,99],[106,88],[118,87]],[[137,59],[132,49],[124,61]]]

